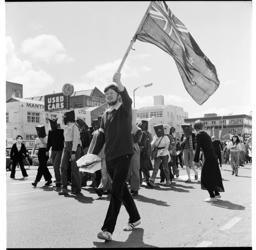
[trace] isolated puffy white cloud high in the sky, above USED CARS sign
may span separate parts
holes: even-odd
[[[35,38],[29,37],[22,42],[21,46],[23,53],[33,59],[44,60],[48,64],[74,61],[66,54],[63,44],[54,35],[43,34]]]

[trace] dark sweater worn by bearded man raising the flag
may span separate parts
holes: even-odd
[[[132,100],[126,88],[120,92],[122,103],[116,110],[106,111],[101,118],[99,135],[96,138],[92,154],[98,155],[105,146],[105,159],[110,161],[126,154],[134,154],[132,131]]]

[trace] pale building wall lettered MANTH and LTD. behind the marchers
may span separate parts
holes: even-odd
[[[92,126],[93,120],[97,119],[104,111],[108,109],[107,104],[98,107],[84,107],[74,109],[76,119],[83,119],[88,126]],[[37,132],[35,126],[45,125],[45,131],[51,129],[48,118],[58,118],[61,128],[64,125],[64,111],[44,111],[44,102],[30,99],[20,99],[12,97],[6,102],[6,146],[10,148],[16,142],[16,136],[21,135],[24,144],[28,149],[34,146]]]

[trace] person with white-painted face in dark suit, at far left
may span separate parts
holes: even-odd
[[[24,163],[23,163],[23,156],[26,157],[26,159],[29,157],[27,154],[27,149],[24,145],[24,143],[22,143],[22,136],[17,135],[16,136],[16,143],[14,143],[12,145],[12,149],[11,149],[11,153],[10,153],[10,158],[12,160],[12,172],[11,172],[11,179],[15,179],[15,168],[17,163],[19,162],[20,164],[20,170],[22,173],[23,177],[28,177],[27,171],[24,168]]]

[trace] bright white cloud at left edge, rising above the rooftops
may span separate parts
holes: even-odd
[[[51,86],[53,77],[44,70],[34,70],[31,62],[17,58],[14,49],[12,38],[6,37],[6,81],[23,84],[23,93],[29,94],[27,97]]]

